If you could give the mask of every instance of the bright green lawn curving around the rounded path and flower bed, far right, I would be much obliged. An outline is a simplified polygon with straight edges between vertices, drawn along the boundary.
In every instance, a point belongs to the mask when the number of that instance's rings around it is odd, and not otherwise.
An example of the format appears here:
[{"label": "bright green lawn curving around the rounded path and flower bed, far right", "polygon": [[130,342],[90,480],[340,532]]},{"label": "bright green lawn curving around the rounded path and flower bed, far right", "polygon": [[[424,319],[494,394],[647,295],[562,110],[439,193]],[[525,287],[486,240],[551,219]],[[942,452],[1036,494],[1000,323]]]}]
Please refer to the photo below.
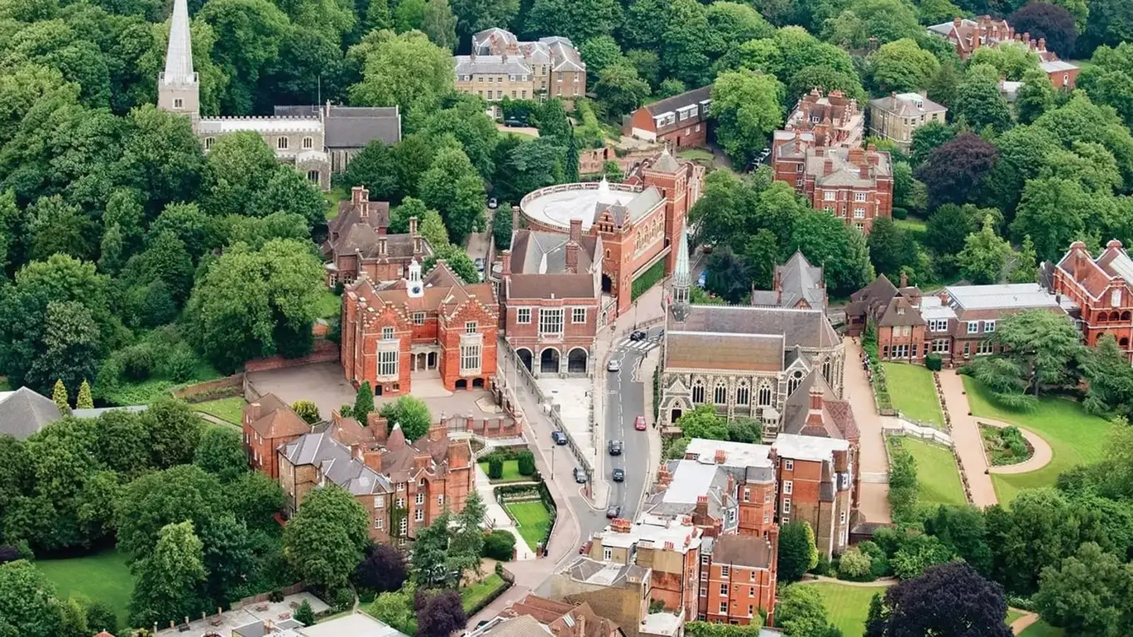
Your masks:
[{"label": "bright green lawn curving around the rounded path and flower bed, far right", "polygon": [[1020,490],[1054,485],[1058,474],[1077,465],[1097,462],[1105,456],[1113,424],[1087,414],[1077,402],[1042,398],[1034,409],[1007,409],[996,405],[974,379],[962,377],[972,414],[1031,430],[1042,436],[1054,452],[1050,464],[1041,469],[1025,474],[991,474],[1000,504],[1010,504]]}]

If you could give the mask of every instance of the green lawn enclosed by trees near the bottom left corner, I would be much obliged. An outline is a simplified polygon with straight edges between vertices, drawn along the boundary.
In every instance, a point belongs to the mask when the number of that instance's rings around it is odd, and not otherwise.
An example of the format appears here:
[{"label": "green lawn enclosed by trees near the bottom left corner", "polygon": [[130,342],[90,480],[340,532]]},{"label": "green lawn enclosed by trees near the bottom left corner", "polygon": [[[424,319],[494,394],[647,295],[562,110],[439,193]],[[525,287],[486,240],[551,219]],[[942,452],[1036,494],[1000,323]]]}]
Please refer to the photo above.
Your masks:
[{"label": "green lawn enclosed by trees near the bottom left corner", "polygon": [[119,625],[126,626],[134,576],[126,567],[126,555],[117,549],[84,558],[39,560],[35,566],[56,585],[61,598],[83,596],[107,602],[118,611]]}]

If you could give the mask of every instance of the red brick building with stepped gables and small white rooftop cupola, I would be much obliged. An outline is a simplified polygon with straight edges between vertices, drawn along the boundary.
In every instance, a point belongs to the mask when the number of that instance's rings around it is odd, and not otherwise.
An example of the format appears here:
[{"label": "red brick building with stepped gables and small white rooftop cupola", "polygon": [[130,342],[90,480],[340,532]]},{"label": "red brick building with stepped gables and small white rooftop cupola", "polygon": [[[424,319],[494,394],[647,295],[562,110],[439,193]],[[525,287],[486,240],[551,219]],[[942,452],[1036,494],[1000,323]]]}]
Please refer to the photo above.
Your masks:
[{"label": "red brick building with stepped gables and small white rooftop cupola", "polygon": [[341,360],[353,384],[375,394],[409,393],[412,379],[440,376],[454,391],[487,387],[496,371],[499,301],[491,283],[465,283],[438,261],[421,279],[382,286],[368,277],[342,295]]}]

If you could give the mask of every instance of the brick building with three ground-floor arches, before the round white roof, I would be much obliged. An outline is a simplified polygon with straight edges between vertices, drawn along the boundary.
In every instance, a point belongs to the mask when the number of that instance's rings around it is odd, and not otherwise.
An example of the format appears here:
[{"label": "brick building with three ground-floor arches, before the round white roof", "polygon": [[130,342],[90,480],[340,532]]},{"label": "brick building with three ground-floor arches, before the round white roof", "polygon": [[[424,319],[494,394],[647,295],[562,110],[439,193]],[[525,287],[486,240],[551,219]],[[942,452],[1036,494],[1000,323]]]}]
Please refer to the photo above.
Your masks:
[{"label": "brick building with three ground-floor arches, before the round white roof", "polygon": [[500,318],[508,342],[529,371],[579,374],[590,371],[602,306],[602,239],[518,230],[502,255]]}]

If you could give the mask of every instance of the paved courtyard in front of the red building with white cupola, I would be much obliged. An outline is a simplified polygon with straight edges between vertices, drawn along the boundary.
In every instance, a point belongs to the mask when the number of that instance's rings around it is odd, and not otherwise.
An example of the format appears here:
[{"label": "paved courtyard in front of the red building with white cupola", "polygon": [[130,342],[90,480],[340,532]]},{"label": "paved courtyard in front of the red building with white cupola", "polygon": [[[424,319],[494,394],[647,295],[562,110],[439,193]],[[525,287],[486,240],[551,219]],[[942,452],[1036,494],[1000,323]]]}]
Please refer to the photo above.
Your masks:
[{"label": "paved courtyard in front of the red building with white cupola", "polygon": [[[300,367],[252,372],[248,374],[248,381],[261,394],[271,392],[288,404],[304,399],[314,401],[324,418],[330,418],[333,409],[353,405],[357,394],[353,385],[342,375],[342,367],[338,363],[315,363]],[[440,418],[442,414],[444,416],[471,414],[477,418],[495,415],[495,411],[485,409],[485,407],[491,409],[493,406],[492,393],[487,390],[453,393],[441,387],[440,377],[431,376],[420,379],[414,376],[412,383],[410,394],[428,405],[434,419]],[[376,396],[374,406],[381,409],[382,405],[397,398],[397,396]]]}]

